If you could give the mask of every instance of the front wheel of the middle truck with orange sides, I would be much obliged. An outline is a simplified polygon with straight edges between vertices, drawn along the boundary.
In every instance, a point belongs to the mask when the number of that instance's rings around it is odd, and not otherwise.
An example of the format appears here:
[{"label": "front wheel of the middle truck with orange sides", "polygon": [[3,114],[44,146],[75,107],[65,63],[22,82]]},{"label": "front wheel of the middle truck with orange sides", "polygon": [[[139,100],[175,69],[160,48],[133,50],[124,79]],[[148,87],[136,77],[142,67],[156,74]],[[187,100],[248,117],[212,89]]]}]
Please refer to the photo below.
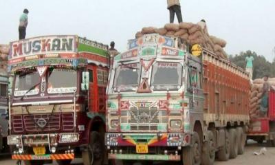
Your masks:
[{"label": "front wheel of the middle truck with orange sides", "polygon": [[201,164],[201,142],[197,132],[192,135],[191,145],[183,148],[182,162],[184,165]]}]

